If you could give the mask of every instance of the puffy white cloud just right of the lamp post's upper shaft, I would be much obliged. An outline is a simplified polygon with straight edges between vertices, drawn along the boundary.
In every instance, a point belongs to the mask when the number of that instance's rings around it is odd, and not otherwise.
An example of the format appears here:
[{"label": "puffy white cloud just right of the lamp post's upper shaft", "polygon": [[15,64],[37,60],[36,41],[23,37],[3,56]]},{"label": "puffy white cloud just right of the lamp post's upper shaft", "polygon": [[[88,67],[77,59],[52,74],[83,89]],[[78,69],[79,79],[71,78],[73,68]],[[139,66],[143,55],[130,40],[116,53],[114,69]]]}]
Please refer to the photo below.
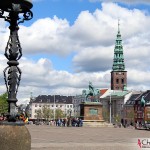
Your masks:
[{"label": "puffy white cloud just right of the lamp post's upper shaft", "polygon": [[30,28],[21,26],[20,40],[25,53],[48,53],[66,55],[70,52],[70,39],[65,36],[67,20],[44,18],[37,20]]}]

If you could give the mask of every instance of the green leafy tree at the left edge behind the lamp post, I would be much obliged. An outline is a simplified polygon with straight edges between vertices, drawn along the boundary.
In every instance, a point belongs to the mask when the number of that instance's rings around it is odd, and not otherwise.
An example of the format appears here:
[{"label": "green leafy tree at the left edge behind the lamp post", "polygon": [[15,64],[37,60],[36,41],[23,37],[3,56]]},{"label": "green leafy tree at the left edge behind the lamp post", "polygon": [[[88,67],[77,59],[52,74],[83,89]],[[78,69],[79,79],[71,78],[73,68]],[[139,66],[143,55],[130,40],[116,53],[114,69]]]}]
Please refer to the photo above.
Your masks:
[{"label": "green leafy tree at the left edge behind the lamp post", "polygon": [[7,98],[8,98],[7,93],[0,95],[0,114],[4,114],[8,112]]}]

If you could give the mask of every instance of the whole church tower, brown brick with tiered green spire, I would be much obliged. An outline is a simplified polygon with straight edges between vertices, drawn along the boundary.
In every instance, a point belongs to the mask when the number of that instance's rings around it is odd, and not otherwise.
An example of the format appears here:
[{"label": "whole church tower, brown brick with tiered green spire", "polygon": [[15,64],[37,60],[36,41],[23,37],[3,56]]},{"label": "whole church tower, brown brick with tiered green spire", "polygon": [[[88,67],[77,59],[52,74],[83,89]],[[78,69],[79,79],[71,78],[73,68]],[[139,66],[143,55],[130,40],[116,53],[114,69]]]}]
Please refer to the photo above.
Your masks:
[{"label": "whole church tower, brown brick with tiered green spire", "polygon": [[114,48],[114,59],[111,71],[111,90],[126,90],[127,71],[125,71],[123,46],[118,20],[118,33]]}]

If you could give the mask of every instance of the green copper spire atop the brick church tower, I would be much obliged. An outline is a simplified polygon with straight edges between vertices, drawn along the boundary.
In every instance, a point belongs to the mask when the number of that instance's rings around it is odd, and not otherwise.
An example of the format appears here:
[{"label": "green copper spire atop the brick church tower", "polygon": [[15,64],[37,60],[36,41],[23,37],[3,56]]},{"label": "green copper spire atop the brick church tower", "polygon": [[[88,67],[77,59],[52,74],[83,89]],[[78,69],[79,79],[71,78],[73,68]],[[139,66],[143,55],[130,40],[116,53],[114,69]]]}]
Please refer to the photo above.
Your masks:
[{"label": "green copper spire atop the brick church tower", "polygon": [[116,38],[116,43],[115,43],[114,60],[113,60],[112,69],[113,69],[113,71],[124,71],[125,70],[119,20],[118,20],[118,33],[117,33],[117,38]]}]

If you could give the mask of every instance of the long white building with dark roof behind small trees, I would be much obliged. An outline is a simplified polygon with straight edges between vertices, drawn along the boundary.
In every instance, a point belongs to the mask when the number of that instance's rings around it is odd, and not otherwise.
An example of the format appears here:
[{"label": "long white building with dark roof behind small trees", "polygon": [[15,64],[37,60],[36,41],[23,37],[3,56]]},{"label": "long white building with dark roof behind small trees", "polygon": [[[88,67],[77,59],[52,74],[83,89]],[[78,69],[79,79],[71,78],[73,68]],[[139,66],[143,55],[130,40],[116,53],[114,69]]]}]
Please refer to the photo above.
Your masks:
[{"label": "long white building with dark roof behind small trees", "polygon": [[70,113],[71,116],[74,116],[72,99],[73,96],[39,95],[38,97],[31,99],[29,103],[29,118],[33,120],[37,119],[37,110],[42,110],[44,106],[47,106],[53,110],[53,112],[55,112],[56,109],[61,109],[64,112],[65,117],[68,117]]}]

